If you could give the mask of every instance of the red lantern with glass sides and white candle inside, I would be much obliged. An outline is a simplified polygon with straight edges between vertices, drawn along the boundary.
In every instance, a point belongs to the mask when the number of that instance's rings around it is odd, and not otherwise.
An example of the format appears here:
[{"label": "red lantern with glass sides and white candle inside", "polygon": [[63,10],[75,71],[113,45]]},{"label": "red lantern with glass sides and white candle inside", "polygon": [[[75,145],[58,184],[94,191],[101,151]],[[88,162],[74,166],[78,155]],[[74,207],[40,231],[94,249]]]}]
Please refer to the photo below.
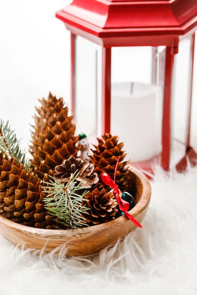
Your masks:
[{"label": "red lantern with glass sides and white candle inside", "polygon": [[83,132],[118,134],[135,166],[168,170],[190,146],[196,0],[73,0],[71,102]]}]

